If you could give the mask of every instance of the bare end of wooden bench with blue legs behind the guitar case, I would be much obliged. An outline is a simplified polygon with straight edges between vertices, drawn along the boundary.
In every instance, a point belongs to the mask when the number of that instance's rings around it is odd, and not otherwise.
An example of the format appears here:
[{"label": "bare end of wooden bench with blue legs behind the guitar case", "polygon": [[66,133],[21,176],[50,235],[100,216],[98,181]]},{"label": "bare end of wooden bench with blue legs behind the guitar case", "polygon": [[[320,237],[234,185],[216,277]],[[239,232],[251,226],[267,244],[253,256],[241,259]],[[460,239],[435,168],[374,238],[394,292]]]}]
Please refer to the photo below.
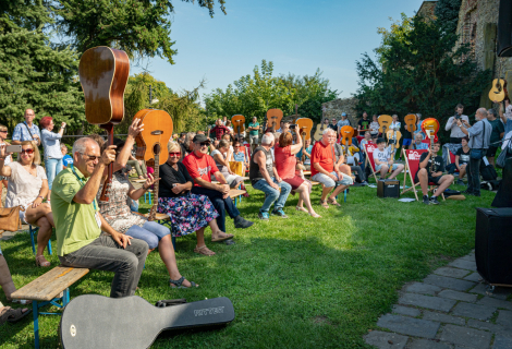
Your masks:
[{"label": "bare end of wooden bench with blue legs behind the guitar case", "polygon": [[[13,299],[32,300],[36,349],[39,348],[39,314],[61,315],[61,313],[42,313],[39,312],[39,309],[48,304],[61,309],[68,305],[70,302],[69,287],[83,278],[87,273],[89,273],[87,268],[57,266],[14,293],[11,293],[11,298]],[[59,301],[61,301],[62,304],[59,304]]]}]

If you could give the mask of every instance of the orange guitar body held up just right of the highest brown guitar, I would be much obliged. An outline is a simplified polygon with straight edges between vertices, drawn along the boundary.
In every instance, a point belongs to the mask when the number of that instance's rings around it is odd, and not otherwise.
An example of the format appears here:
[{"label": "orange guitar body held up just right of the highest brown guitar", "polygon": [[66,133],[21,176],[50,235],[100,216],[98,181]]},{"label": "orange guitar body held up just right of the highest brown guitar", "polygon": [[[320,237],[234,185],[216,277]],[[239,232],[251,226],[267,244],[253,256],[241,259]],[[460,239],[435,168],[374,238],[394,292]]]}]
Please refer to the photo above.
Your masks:
[{"label": "orange guitar body held up just right of the highest brown guitar", "polygon": [[[171,116],[163,110],[143,109],[137,111],[133,119],[139,119],[139,124],[144,123],[144,131],[135,139],[137,144],[136,158],[146,163],[155,161],[155,145],[157,144],[167,153],[167,144],[172,137],[173,130]],[[162,134],[155,134],[157,130],[162,131]],[[167,158],[167,156],[161,156],[158,165],[163,165]]]}]

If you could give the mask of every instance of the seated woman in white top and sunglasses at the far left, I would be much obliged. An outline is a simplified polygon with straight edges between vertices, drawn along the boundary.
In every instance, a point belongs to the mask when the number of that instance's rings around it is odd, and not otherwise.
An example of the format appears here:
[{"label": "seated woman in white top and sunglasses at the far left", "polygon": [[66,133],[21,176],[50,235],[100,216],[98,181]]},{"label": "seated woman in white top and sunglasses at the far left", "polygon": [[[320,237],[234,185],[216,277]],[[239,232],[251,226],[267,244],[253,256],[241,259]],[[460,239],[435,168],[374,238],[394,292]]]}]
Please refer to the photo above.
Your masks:
[{"label": "seated woman in white top and sunglasses at the far left", "polygon": [[23,222],[39,227],[37,233],[36,265],[50,266],[44,256],[44,251],[56,226],[49,203],[42,203],[48,194],[48,179],[39,166],[39,149],[33,141],[22,142],[22,153],[17,161],[4,166],[4,159],[11,155],[5,153],[5,145],[0,149],[0,176],[9,179],[5,207],[20,207],[20,219]]}]

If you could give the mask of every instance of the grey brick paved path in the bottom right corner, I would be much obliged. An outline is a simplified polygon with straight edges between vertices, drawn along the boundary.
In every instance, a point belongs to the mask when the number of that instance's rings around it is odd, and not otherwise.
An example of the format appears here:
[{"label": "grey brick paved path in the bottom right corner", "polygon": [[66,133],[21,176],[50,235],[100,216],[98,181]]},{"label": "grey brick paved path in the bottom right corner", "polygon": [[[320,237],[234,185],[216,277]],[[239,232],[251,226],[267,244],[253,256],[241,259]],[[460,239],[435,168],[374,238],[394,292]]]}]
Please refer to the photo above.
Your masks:
[{"label": "grey brick paved path in the bottom right corner", "polygon": [[512,288],[487,294],[479,280],[472,252],[423,282],[405,285],[366,342],[386,349],[512,349]]}]

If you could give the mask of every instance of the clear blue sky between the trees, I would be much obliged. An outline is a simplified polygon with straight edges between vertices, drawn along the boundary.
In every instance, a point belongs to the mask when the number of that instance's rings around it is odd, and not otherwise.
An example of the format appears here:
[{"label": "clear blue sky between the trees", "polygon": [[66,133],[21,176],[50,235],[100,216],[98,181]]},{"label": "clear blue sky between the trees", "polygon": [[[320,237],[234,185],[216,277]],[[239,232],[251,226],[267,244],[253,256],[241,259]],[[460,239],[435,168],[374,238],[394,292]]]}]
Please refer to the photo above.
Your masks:
[{"label": "clear blue sky between the trees", "polygon": [[[171,39],[175,64],[154,58],[143,62],[151,75],[172,89],[225,88],[252,73],[263,59],[275,75],[312,75],[319,68],[340,97],[357,88],[355,61],[380,44],[377,27],[389,28],[400,13],[412,16],[423,0],[227,0],[210,19],[196,4],[174,0]],[[141,72],[132,67],[131,73]]]}]

